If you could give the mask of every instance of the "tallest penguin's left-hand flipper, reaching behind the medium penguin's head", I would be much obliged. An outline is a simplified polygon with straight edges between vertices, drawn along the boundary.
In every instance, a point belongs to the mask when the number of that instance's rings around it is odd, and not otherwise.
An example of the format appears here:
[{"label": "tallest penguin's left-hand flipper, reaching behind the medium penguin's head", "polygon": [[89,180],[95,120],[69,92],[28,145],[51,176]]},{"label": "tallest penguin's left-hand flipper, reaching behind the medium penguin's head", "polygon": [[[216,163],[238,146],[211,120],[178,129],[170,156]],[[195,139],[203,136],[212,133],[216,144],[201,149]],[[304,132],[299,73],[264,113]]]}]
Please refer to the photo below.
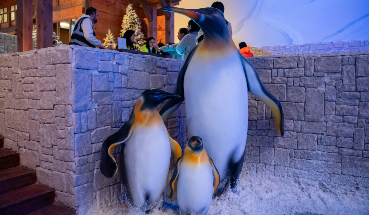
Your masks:
[{"label": "tallest penguin's left-hand flipper, reaching behind the medium penguin's head", "polygon": [[177,108],[179,107],[179,105],[181,105],[182,102],[184,101],[184,89],[183,89],[184,74],[186,73],[187,66],[188,66],[193,54],[196,52],[196,49],[197,49],[197,46],[195,46],[195,48],[193,48],[192,51],[187,56],[186,62],[184,62],[184,65],[183,65],[181,71],[179,72],[179,75],[178,75],[178,78],[177,78],[176,88],[174,89],[173,93],[178,94],[181,97],[180,98],[170,98],[170,99],[166,100],[165,104],[163,105],[162,109],[160,110],[160,115],[161,115],[164,122],[166,121],[166,119],[168,119],[170,114],[172,114],[174,111],[176,111]]}]

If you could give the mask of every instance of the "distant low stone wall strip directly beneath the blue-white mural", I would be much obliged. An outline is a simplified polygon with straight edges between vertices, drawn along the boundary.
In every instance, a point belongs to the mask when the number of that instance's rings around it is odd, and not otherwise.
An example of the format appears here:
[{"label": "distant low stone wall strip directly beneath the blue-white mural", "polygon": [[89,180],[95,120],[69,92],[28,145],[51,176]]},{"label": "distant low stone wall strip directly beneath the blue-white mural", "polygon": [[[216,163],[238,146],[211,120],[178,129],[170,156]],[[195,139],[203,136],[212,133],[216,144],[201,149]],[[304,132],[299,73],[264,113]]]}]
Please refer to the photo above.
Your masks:
[{"label": "distant low stone wall strip directly beneath the blue-white mural", "polygon": [[289,55],[289,54],[330,54],[343,52],[365,52],[369,51],[369,40],[321,42],[296,45],[277,45],[250,47],[254,56]]}]

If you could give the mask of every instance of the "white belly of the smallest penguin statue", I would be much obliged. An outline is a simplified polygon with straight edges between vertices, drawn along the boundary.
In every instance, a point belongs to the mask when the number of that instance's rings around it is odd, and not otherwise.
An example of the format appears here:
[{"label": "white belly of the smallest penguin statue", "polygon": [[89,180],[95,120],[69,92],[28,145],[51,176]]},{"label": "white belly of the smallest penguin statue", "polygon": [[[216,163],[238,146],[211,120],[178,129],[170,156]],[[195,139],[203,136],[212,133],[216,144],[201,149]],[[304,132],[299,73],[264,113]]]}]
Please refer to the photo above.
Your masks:
[{"label": "white belly of the smallest penguin statue", "polygon": [[209,162],[199,166],[181,163],[177,201],[183,214],[207,212],[213,198],[213,172]]}]

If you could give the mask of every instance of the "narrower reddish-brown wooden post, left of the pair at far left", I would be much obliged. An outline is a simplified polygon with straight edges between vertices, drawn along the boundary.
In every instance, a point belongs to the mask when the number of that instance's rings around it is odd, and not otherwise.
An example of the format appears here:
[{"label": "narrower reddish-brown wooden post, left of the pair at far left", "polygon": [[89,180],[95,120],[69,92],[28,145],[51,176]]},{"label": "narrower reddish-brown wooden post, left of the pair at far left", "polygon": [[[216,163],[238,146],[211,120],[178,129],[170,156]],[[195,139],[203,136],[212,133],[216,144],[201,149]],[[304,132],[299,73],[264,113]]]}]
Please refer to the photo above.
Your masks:
[{"label": "narrower reddish-brown wooden post, left of the pair at far left", "polygon": [[[23,0],[23,51],[32,50],[32,0]],[[19,20],[18,20],[19,21]],[[18,44],[19,45],[19,44]]]}]

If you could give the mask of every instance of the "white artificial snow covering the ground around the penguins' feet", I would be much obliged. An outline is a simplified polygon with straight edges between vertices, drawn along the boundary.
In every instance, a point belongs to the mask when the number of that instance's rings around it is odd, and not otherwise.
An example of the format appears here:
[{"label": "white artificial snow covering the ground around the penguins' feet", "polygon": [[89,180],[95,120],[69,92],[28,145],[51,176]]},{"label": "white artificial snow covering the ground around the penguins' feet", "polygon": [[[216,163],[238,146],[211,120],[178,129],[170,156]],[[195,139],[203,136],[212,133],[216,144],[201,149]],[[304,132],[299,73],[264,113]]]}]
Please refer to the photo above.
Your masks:
[{"label": "white artificial snow covering the ground around the penguins' feet", "polygon": [[[301,178],[276,177],[242,170],[238,194],[224,191],[211,203],[208,215],[290,215],[309,212],[323,215],[368,215],[369,189]],[[167,192],[168,193],[168,192]],[[169,191],[170,193],[170,191]],[[173,202],[175,203],[175,202]],[[172,208],[175,208],[172,203]],[[168,197],[165,204],[168,205]],[[134,215],[122,208],[89,209],[86,214]],[[150,215],[179,215],[170,207],[152,209]]]}]

